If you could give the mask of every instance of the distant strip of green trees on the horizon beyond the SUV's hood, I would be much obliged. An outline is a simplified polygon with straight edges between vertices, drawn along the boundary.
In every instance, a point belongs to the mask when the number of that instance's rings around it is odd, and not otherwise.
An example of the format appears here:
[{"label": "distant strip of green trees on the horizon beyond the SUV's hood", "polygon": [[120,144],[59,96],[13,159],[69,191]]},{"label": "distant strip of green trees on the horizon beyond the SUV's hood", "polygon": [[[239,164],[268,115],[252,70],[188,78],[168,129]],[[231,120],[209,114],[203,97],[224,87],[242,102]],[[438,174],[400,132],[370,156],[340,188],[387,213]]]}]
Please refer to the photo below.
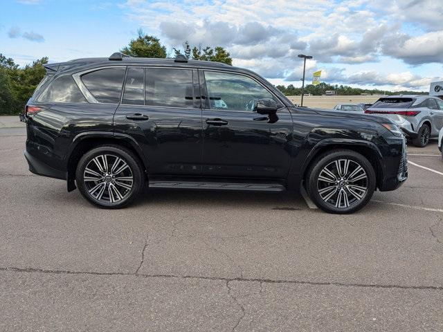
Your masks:
[{"label": "distant strip of green trees on the horizon beyond the SUV's hood", "polygon": [[[301,95],[302,89],[296,88],[293,84],[288,86],[278,85],[277,89],[282,91],[284,95]],[[327,83],[320,83],[318,85],[308,84],[305,86],[305,94],[310,93],[311,95],[325,95],[326,91],[336,91],[337,95],[361,95],[361,93],[368,93],[369,95],[427,95],[427,92],[417,92],[417,91],[386,91],[379,89],[359,89],[352,88],[352,86],[347,85],[332,85]]]}]

